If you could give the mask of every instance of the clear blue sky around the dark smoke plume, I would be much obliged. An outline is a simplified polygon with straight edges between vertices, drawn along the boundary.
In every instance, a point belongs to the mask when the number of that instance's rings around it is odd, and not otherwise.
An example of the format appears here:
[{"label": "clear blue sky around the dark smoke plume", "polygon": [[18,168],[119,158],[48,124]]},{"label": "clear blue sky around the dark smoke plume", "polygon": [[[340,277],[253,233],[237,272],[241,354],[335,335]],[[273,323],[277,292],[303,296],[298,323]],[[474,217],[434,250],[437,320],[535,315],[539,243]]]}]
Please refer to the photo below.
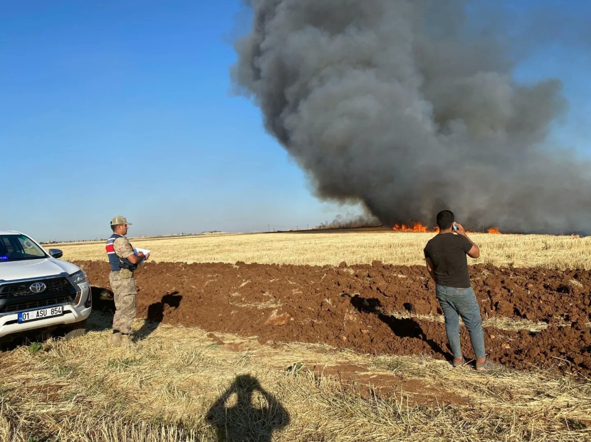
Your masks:
[{"label": "clear blue sky around the dark smoke plume", "polygon": [[[589,5],[568,4],[574,20],[591,18]],[[0,228],[80,240],[108,236],[119,214],[135,236],[355,213],[314,198],[259,110],[230,94],[240,10],[238,0],[1,2]],[[568,32],[557,40],[533,44],[515,75],[563,80],[570,111],[553,138],[588,155],[589,47]]]}]

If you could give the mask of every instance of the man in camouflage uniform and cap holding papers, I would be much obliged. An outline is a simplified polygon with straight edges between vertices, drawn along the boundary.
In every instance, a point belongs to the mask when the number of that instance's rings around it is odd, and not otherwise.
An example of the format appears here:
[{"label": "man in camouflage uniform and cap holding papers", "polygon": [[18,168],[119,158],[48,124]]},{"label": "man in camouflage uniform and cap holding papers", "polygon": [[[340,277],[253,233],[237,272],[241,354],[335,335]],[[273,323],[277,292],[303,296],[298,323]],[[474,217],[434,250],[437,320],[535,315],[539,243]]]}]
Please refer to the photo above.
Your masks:
[{"label": "man in camouflage uniform and cap holding papers", "polygon": [[129,240],[125,237],[128,230],[125,217],[117,216],[111,220],[113,235],[107,240],[106,252],[111,264],[109,282],[115,296],[115,316],[113,317],[112,345],[128,346],[131,343],[131,324],[135,319],[135,279],[134,270],[138,264],[150,257],[139,252],[134,253]]}]

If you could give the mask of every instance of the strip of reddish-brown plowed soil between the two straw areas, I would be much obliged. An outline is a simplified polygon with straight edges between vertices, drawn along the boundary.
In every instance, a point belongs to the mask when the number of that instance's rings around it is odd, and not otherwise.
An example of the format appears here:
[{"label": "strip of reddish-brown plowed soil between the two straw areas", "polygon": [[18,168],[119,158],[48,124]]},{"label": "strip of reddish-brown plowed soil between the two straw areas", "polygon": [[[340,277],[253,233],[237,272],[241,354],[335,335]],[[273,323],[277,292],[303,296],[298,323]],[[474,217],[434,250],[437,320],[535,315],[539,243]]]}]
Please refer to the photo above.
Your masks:
[{"label": "strip of reddish-brown plowed soil between the two straw areas", "polygon": [[[95,308],[109,289],[107,263],[78,263],[93,285]],[[541,332],[487,327],[489,357],[518,369],[591,374],[589,270],[470,267],[483,318],[547,323]],[[326,343],[372,354],[449,359],[445,326],[392,312],[440,315],[434,284],[422,266],[278,266],[146,263],[136,271],[138,317],[258,336],[262,342]],[[412,316],[412,315],[411,315]],[[473,357],[462,327],[462,347]]]}]

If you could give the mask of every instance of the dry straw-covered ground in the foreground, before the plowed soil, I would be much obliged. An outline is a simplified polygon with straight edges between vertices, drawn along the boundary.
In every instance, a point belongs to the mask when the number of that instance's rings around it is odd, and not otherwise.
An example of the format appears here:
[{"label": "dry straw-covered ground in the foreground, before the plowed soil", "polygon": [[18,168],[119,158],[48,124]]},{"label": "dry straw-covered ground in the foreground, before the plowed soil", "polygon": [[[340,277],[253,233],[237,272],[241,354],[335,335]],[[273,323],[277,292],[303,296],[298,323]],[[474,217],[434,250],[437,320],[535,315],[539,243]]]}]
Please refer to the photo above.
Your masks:
[{"label": "dry straw-covered ground in the foreground, before the plowed soil", "polygon": [[[81,338],[47,340],[41,351],[21,346],[2,355],[0,440],[591,438],[591,385],[584,379],[547,372],[482,375],[421,356],[268,346],[255,338],[155,323],[142,328],[152,331],[135,348],[112,348],[106,319],[93,314],[95,331]],[[374,388],[314,374],[314,366],[326,373],[353,367]],[[380,383],[395,387],[372,394]],[[452,401],[425,402],[426,392]]]}]

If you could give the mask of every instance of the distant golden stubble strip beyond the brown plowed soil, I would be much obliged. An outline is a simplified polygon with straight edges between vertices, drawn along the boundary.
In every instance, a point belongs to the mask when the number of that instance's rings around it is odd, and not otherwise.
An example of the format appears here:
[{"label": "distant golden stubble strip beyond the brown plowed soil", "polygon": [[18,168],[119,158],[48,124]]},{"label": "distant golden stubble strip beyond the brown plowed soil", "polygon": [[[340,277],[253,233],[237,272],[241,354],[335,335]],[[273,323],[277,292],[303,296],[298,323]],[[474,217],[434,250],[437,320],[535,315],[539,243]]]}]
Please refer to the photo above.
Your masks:
[{"label": "distant golden stubble strip beyond the brown plowed soil", "polygon": [[[186,263],[223,262],[310,264],[323,266],[370,264],[424,264],[423,248],[431,233],[393,231],[348,233],[272,233],[203,235],[180,238],[138,238],[137,247],[152,250],[151,260]],[[591,237],[553,235],[470,235],[481,257],[471,263],[496,266],[591,269]],[[104,244],[52,244],[64,259],[106,261]]]}]

